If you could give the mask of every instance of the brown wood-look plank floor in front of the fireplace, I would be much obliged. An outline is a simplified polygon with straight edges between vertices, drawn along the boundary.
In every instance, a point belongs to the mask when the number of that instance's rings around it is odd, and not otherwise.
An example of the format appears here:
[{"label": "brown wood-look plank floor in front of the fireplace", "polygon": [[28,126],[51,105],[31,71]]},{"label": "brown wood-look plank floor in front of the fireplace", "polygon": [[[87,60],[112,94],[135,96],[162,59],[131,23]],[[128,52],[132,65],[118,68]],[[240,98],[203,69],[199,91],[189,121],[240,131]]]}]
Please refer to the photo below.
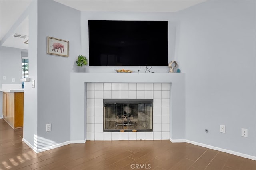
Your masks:
[{"label": "brown wood-look plank floor in front of the fireplace", "polygon": [[20,170],[256,170],[256,161],[189,143],[86,141],[35,154],[0,119],[0,167]]}]

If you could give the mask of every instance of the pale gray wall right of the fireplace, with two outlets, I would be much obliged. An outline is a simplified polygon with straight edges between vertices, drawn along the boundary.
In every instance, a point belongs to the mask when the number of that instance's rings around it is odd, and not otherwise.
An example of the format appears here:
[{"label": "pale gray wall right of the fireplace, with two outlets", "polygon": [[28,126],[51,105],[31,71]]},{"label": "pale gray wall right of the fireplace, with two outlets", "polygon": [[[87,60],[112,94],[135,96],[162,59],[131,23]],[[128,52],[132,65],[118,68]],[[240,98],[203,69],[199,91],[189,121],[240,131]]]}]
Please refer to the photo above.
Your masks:
[{"label": "pale gray wall right of the fireplace, with two outlets", "polygon": [[[186,139],[256,156],[255,1],[207,1],[179,12]],[[226,133],[220,133],[226,125]],[[241,137],[241,128],[248,137]],[[208,129],[209,133],[205,133]]]}]

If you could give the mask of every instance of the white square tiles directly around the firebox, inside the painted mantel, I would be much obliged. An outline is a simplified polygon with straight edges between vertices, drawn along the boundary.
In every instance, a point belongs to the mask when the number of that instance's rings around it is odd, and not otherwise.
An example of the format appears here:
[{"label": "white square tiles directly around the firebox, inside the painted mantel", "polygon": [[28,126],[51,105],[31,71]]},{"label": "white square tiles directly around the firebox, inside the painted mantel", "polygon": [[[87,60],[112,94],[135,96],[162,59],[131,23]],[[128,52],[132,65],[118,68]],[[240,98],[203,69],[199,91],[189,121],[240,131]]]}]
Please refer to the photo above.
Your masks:
[{"label": "white square tiles directly around the firebox, inside the painted mantel", "polygon": [[[87,140],[170,137],[170,83],[87,83]],[[154,132],[103,132],[103,99],[153,99]]]}]

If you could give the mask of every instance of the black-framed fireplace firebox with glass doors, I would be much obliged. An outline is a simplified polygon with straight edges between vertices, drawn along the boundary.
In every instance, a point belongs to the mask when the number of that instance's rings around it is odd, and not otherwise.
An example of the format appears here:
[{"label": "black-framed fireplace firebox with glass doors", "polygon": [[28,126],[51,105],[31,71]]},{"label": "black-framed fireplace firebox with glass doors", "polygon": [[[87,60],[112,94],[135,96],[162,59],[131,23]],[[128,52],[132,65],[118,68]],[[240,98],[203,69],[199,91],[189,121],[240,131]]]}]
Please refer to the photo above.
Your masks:
[{"label": "black-framed fireplace firebox with glass doors", "polygon": [[153,99],[103,99],[103,131],[153,131]]}]

